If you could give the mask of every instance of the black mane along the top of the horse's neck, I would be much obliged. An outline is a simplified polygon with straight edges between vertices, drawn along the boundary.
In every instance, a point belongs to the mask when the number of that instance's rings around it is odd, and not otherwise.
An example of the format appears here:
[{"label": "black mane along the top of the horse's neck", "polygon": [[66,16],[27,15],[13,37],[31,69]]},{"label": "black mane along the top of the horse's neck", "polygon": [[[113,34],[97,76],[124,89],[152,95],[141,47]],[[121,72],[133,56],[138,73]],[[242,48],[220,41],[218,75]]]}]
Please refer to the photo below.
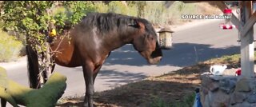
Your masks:
[{"label": "black mane along the top of the horse's neck", "polygon": [[142,22],[145,29],[150,34],[155,34],[154,28],[150,22],[143,18],[136,18],[132,16],[127,16],[123,14],[114,13],[90,13],[82,18],[83,26],[94,26],[102,33],[108,33],[113,30],[114,27],[122,28],[122,26],[127,26],[134,21]]}]

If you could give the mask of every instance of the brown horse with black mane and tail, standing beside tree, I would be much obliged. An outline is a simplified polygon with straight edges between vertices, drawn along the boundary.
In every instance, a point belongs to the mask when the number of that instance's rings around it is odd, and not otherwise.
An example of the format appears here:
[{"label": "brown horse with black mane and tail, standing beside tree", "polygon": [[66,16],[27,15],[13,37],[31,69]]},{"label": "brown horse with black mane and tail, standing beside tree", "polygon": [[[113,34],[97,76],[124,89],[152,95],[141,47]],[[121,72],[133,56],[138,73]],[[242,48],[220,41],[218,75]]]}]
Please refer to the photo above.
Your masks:
[{"label": "brown horse with black mane and tail, standing beside tree", "polygon": [[[146,19],[122,14],[87,14],[82,21],[70,30],[70,40],[55,39],[51,44],[60,53],[54,55],[58,65],[67,67],[82,66],[86,82],[84,105],[93,106],[94,80],[106,57],[112,50],[126,44],[134,49],[150,64],[158,64],[162,50],[158,46],[157,34]],[[70,43],[69,43],[70,41]],[[30,87],[38,85],[38,62],[36,53],[27,46]]]}]

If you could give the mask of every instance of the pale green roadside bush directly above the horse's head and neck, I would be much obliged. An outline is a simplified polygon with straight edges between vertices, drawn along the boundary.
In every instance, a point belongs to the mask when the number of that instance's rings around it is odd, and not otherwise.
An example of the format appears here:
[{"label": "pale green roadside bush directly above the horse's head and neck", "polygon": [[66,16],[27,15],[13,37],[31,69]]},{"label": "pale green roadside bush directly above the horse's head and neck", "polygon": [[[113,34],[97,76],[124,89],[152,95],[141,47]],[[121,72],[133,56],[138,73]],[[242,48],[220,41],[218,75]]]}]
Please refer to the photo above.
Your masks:
[{"label": "pale green roadside bush directly above the horse's head and neck", "polygon": [[[166,8],[164,2],[131,2],[138,8],[138,16],[146,18],[154,25],[166,26],[170,24],[180,24],[188,20],[182,19],[182,14],[198,14],[194,3],[185,4],[174,2],[172,6]],[[141,11],[142,10],[142,11]]]}]

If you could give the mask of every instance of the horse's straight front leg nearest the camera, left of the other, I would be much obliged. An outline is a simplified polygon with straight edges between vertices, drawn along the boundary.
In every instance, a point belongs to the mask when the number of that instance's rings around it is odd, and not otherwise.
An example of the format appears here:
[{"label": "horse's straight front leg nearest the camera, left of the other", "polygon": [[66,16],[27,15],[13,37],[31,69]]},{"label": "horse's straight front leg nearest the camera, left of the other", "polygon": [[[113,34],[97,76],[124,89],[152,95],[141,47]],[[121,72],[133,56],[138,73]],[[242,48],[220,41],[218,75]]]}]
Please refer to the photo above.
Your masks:
[{"label": "horse's straight front leg nearest the camera, left of the other", "polygon": [[94,106],[94,65],[86,63],[82,65],[83,77],[86,81],[86,96],[84,99],[84,106]]}]

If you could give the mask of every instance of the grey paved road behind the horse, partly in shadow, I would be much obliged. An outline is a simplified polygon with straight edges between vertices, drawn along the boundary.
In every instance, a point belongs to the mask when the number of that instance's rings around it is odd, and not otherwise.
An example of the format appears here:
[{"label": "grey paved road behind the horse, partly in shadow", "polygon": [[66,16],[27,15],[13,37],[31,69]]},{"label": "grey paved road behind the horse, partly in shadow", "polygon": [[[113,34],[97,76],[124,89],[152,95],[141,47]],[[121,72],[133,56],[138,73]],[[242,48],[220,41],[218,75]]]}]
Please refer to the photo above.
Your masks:
[{"label": "grey paved road behind the horse, partly in shadow", "polygon": [[[221,30],[214,21],[205,25],[189,27],[174,33],[174,50],[163,50],[163,59],[159,65],[147,65],[132,46],[122,46],[114,50],[102,66],[95,81],[95,91],[112,89],[128,82],[139,81],[148,76],[169,73],[197,61],[205,61],[240,51],[238,30]],[[81,96],[85,92],[82,68],[56,66],[58,71],[68,78],[66,96]],[[189,71],[188,71],[189,72]],[[27,85],[26,63],[8,69],[8,75],[14,81]]]}]

